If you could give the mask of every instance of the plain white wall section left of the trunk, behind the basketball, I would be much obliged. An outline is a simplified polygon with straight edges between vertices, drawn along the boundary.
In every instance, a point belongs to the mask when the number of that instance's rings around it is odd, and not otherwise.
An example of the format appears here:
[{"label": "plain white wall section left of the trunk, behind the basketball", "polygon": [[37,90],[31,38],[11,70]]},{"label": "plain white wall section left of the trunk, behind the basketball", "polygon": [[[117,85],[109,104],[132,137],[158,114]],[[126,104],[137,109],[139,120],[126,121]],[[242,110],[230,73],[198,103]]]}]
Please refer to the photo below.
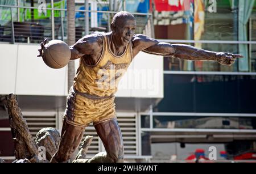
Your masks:
[{"label": "plain white wall section left of the trunk, behind the basketball", "polygon": [[37,45],[0,44],[0,94],[67,94],[67,67],[46,66],[36,57],[38,49]]}]

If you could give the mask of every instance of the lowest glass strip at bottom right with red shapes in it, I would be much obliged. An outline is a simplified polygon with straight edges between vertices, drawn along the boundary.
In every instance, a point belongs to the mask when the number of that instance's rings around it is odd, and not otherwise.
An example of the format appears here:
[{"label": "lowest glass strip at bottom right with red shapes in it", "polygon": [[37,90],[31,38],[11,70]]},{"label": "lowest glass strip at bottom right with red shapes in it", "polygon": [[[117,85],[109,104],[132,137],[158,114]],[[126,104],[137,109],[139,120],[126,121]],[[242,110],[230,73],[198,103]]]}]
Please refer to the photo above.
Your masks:
[{"label": "lowest glass strip at bottom right with red shapes in it", "polygon": [[[211,150],[216,148],[216,160],[213,162],[227,162],[225,160],[255,159],[255,147],[252,141],[234,141],[229,143],[162,143],[151,144],[152,162],[209,162]],[[197,157],[198,156],[198,157]]]}]

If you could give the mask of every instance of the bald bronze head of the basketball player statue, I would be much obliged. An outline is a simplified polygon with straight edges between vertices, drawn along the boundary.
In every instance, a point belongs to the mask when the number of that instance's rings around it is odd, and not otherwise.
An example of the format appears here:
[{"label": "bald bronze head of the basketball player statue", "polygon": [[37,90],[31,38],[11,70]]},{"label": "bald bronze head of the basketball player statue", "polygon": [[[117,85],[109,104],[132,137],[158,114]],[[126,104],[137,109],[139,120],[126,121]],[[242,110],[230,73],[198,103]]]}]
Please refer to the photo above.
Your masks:
[{"label": "bald bronze head of the basketball player statue", "polygon": [[118,45],[127,45],[131,41],[136,28],[136,20],[130,12],[120,11],[114,15],[111,23],[114,41]]}]

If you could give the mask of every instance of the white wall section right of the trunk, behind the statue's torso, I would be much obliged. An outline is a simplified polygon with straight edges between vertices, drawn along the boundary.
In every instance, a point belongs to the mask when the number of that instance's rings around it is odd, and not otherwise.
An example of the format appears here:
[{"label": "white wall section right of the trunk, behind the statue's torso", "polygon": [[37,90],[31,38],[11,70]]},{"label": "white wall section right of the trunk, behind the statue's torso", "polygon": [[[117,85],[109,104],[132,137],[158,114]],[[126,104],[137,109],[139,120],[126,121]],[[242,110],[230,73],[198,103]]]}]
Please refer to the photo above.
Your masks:
[{"label": "white wall section right of the trunk, behind the statue's torso", "polygon": [[[75,68],[79,60],[75,62]],[[140,52],[119,82],[117,97],[163,98],[163,57]]]}]

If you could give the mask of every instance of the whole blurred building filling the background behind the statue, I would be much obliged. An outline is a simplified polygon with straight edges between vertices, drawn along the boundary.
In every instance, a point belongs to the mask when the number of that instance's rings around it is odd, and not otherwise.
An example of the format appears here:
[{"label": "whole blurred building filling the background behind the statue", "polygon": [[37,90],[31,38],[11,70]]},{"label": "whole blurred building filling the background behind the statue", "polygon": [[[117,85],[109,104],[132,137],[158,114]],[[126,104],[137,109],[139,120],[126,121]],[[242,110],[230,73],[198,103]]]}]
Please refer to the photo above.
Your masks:
[{"label": "whole blurred building filling the background behind the statue", "polygon": [[[127,161],[208,160],[211,146],[218,161],[256,159],[256,1],[75,2],[76,40],[108,32],[115,11],[126,10],[137,18],[137,33],[245,57],[227,67],[138,54],[115,101]],[[67,67],[50,69],[36,55],[45,37],[67,41],[65,9],[65,0],[0,1],[0,158],[14,159],[5,107],[10,92],[32,135],[48,126],[61,129]],[[88,157],[104,150],[93,126],[85,135],[94,137]]]}]

